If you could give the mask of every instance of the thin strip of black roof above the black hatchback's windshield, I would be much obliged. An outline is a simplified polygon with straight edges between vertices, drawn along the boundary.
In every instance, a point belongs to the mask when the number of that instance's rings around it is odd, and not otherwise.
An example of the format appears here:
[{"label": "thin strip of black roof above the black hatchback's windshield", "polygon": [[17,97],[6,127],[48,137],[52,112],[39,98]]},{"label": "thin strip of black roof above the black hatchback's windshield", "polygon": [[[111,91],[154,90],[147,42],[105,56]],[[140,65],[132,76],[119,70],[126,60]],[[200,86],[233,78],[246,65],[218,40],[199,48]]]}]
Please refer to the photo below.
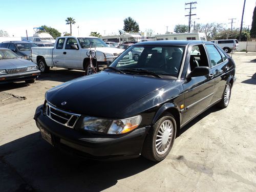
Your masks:
[{"label": "thin strip of black roof above the black hatchback's windshield", "polygon": [[155,40],[155,41],[143,41],[134,44],[135,46],[187,46],[187,45],[194,45],[194,44],[212,44],[209,41],[201,41],[201,40]]}]

